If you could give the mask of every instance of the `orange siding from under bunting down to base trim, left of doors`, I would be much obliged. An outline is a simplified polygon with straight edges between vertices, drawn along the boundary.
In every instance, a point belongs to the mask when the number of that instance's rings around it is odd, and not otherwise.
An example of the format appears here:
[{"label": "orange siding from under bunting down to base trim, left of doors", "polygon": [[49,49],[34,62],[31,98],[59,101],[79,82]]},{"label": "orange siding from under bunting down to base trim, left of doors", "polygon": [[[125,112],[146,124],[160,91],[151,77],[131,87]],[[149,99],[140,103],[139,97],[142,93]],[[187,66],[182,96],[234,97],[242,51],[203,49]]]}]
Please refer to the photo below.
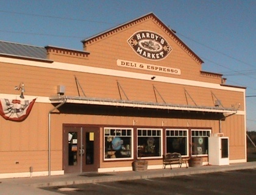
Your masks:
[{"label": "orange siding from under bunting down to base trim, left of doors", "polygon": [[[0,161],[1,173],[27,172],[30,166],[34,171],[48,169],[48,112],[51,108],[50,104],[35,103],[23,122],[0,118],[0,152],[1,159],[4,159]],[[55,139],[59,143],[52,145],[52,170],[60,170],[62,141]]]}]

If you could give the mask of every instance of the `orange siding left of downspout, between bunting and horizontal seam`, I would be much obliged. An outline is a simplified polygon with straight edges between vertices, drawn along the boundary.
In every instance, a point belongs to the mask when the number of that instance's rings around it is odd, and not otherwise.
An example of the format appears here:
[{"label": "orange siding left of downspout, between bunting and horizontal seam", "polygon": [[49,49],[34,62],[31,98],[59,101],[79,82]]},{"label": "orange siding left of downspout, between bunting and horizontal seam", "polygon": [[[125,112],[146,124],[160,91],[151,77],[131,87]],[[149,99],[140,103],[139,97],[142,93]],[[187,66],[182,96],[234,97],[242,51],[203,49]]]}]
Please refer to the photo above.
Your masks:
[{"label": "orange siding left of downspout, between bunting and horizontal seam", "polygon": [[34,104],[29,117],[23,122],[0,118],[1,151],[44,151],[48,149],[49,104]]}]

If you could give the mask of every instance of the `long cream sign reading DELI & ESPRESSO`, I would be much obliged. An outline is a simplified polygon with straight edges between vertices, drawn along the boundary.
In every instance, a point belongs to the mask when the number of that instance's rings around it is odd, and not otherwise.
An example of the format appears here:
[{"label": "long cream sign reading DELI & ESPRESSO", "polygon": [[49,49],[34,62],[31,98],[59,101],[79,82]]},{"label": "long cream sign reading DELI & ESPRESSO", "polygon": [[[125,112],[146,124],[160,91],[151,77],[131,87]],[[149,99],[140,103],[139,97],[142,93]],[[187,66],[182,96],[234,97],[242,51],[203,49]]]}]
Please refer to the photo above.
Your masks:
[{"label": "long cream sign reading DELI & ESPRESSO", "polygon": [[166,66],[157,66],[157,65],[149,65],[147,63],[139,63],[139,62],[131,62],[127,60],[117,60],[116,61],[118,66],[123,66],[126,68],[136,68],[136,69],[143,69],[147,71],[155,71],[158,73],[168,73],[168,74],[177,74],[180,75],[180,69],[178,68],[169,68]]}]

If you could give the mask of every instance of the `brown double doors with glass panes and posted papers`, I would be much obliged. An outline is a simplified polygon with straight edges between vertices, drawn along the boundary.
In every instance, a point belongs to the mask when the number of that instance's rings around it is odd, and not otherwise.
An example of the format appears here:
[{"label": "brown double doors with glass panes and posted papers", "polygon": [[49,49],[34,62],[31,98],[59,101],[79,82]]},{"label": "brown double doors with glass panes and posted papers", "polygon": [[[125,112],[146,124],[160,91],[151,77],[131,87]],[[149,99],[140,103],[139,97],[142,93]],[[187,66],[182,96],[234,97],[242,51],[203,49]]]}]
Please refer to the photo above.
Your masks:
[{"label": "brown double doors with glass panes and posted papers", "polygon": [[99,168],[99,128],[63,127],[63,169],[68,172],[92,172]]}]

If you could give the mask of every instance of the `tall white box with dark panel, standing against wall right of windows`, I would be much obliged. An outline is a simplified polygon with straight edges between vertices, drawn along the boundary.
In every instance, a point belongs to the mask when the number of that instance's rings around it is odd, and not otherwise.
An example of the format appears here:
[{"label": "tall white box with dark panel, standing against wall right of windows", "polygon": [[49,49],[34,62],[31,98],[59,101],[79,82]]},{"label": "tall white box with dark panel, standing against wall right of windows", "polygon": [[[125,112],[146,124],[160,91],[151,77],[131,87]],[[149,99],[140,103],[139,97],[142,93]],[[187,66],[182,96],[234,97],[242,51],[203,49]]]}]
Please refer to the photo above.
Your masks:
[{"label": "tall white box with dark panel, standing against wall right of windows", "polygon": [[229,137],[209,137],[208,149],[210,165],[229,165]]}]

